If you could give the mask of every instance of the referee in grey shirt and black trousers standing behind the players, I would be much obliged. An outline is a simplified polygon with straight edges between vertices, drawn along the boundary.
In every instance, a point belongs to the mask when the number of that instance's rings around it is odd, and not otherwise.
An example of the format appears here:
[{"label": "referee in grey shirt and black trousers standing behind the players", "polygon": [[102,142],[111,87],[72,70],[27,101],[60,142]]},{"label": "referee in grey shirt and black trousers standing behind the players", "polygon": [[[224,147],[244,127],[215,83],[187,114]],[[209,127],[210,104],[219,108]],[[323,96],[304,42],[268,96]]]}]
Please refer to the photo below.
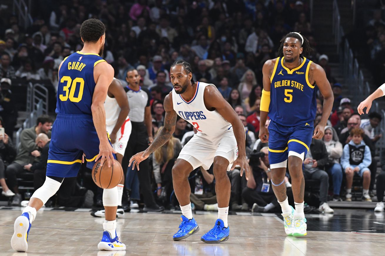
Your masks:
[{"label": "referee in grey shirt and black trousers standing behind the players", "polygon": [[[141,76],[136,69],[127,71],[126,81],[128,86],[125,88],[128,100],[130,102],[130,119],[132,131],[127,144],[126,151],[122,160],[122,166],[128,166],[131,156],[146,150],[152,138],[152,116],[150,109],[150,93],[139,86]],[[136,171],[139,178],[140,191],[144,199],[144,211],[163,211],[164,207],[155,203],[151,191],[150,165],[149,160],[142,161],[140,171]],[[132,171],[131,168],[127,172]],[[127,175],[132,175],[127,173]],[[127,179],[132,180],[132,179]],[[135,182],[135,181],[134,181]],[[131,186],[129,186],[131,187]],[[137,198],[139,199],[139,198]]]}]

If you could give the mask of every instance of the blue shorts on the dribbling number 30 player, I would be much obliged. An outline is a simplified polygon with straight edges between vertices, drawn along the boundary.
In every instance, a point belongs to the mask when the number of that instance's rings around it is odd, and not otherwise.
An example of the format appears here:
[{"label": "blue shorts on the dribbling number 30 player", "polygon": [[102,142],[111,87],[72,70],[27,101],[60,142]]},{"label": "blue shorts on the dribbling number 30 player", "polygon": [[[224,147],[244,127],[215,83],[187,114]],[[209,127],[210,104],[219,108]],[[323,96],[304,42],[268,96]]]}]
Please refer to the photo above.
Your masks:
[{"label": "blue shorts on the dribbling number 30 player", "polygon": [[[107,132],[105,136],[108,137]],[[52,126],[46,175],[76,177],[83,153],[87,168],[92,169],[99,154],[99,137],[92,116],[58,114]]]}]

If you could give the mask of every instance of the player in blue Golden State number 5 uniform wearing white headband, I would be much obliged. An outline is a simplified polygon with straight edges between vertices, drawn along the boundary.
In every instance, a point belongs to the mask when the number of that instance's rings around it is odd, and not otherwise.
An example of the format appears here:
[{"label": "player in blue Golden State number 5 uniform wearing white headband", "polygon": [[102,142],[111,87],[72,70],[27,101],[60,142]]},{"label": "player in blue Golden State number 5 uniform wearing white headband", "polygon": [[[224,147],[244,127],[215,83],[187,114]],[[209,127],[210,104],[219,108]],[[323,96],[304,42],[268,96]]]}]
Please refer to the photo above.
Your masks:
[{"label": "player in blue Golden State number 5 uniform wearing white headband", "polygon": [[[281,40],[280,57],[266,61],[262,69],[259,138],[263,143],[269,143],[271,183],[282,208],[288,236],[307,234],[303,213],[305,179],[302,163],[312,138],[320,140],[323,137],[334,100],[323,68],[304,57],[309,51],[305,37],[296,32],[288,33]],[[313,128],[316,85],[324,101],[320,124]],[[267,116],[270,118],[268,128],[264,126]],[[286,166],[291,176],[295,209],[289,205],[286,196]],[[313,167],[316,166],[315,161]]]}]

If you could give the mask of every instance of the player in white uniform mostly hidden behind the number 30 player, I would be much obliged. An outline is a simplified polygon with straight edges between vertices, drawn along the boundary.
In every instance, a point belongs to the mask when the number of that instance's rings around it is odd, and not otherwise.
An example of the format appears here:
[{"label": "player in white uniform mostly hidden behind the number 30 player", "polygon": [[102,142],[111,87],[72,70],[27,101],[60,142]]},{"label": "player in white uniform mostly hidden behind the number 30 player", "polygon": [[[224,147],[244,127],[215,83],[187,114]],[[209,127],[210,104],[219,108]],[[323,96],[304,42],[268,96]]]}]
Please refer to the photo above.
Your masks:
[{"label": "player in white uniform mostly hidden behind the number 30 player", "polygon": [[[124,151],[127,147],[128,139],[131,134],[131,121],[128,116],[130,106],[127,100],[126,91],[122,87],[121,82],[114,78],[108,87],[107,98],[104,101],[105,109],[105,127],[109,133],[112,147],[116,151],[116,160],[122,164]],[[116,216],[120,217],[124,215],[124,209],[122,208],[122,196],[124,190],[124,175],[117,185],[119,199]],[[104,217],[104,208],[92,212],[94,217]]]}]

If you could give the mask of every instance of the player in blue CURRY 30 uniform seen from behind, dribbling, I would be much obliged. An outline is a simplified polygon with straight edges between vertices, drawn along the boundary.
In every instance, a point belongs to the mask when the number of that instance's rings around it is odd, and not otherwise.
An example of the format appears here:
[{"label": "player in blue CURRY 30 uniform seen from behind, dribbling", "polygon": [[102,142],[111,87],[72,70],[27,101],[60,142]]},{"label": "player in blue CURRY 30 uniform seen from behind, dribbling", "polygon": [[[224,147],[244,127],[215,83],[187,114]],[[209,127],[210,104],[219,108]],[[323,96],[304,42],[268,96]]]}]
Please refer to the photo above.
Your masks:
[{"label": "player in blue CURRY 30 uniform seen from behind, dribbling", "polygon": [[[114,69],[103,54],[105,27],[100,20],[89,19],[80,27],[84,42],[81,51],[65,58],[59,66],[57,117],[52,127],[48,152],[46,180],[33,193],[28,206],[15,220],[11,246],[15,251],[27,251],[28,233],[36,212],[53,196],[64,178],[76,177],[83,159],[92,168],[101,157],[110,167],[116,153],[109,142],[104,101],[114,77]],[[103,191],[105,221],[100,250],[125,250],[126,245],[116,235],[117,188]]]}]

